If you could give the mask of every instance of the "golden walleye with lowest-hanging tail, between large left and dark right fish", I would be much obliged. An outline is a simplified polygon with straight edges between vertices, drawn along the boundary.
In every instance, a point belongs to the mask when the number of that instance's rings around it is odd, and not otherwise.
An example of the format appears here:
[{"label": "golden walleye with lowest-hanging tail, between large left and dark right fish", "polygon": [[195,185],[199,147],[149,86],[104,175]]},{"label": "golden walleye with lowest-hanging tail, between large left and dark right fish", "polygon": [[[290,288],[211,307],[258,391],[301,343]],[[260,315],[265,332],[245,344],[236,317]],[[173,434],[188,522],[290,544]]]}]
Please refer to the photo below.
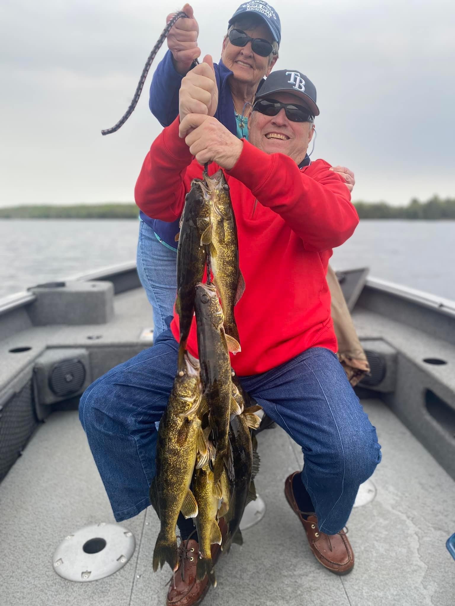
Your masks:
[{"label": "golden walleye with lowest-hanging tail, between large left and dark right fish", "polygon": [[215,543],[221,545],[221,530],[218,526],[217,514],[222,492],[220,485],[215,485],[214,473],[209,462],[204,467],[194,470],[193,490],[198,504],[196,528],[200,550],[196,576],[201,581],[208,574],[212,585],[216,587],[211,546]]}]

